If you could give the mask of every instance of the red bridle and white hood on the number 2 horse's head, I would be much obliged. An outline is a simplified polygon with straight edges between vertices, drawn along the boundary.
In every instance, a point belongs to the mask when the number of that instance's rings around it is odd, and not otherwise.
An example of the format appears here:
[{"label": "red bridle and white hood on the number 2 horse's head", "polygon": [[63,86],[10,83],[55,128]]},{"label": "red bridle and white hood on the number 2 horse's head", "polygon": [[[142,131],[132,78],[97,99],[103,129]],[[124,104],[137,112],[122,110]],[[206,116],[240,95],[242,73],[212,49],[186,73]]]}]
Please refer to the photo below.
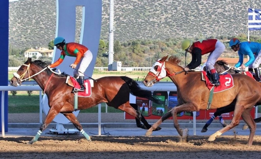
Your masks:
[{"label": "red bridle and white hood on the number 2 horse's head", "polygon": [[[152,82],[154,83],[157,83],[159,82],[162,78],[165,78],[165,77],[170,77],[170,76],[173,76],[173,75],[177,75],[179,73],[182,73],[184,72],[183,71],[180,71],[180,72],[174,72],[174,73],[170,73],[168,70],[166,70],[165,68],[165,61],[162,62],[160,60],[157,60],[156,62],[159,62],[161,65],[158,65],[158,68],[157,70],[155,71],[154,70],[154,66],[151,68],[151,71],[148,73],[149,75],[155,77],[154,80],[152,80]],[[156,63],[155,63],[156,64]],[[155,72],[155,73],[154,73]],[[164,75],[162,75],[164,74]],[[162,75],[162,76],[161,76]]]}]

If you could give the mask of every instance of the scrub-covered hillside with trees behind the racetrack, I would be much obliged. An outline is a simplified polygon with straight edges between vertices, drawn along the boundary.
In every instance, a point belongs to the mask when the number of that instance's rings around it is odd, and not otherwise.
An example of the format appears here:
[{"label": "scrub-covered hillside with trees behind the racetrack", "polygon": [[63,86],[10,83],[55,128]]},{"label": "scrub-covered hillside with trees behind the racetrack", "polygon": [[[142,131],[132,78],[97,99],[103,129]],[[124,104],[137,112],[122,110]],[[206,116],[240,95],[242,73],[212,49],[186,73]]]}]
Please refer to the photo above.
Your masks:
[{"label": "scrub-covered hillside with trees behind the racetrack", "polygon": [[[24,62],[31,47],[52,47],[55,38],[56,0],[19,0],[9,5],[9,65]],[[247,40],[247,8],[261,8],[259,1],[114,1],[114,61],[122,66],[151,66],[156,59],[175,54],[184,64],[180,49],[185,38],[218,38],[226,46],[232,37]],[[77,7],[81,13],[81,8]],[[77,14],[79,41],[81,14]],[[102,29],[96,66],[108,66],[109,0],[102,0]],[[261,41],[261,31],[251,31],[252,41]],[[230,48],[222,54],[235,57]],[[207,57],[207,56],[206,56]],[[206,57],[203,57],[205,59]],[[44,60],[50,60],[42,57]],[[189,61],[191,56],[187,56]]]}]

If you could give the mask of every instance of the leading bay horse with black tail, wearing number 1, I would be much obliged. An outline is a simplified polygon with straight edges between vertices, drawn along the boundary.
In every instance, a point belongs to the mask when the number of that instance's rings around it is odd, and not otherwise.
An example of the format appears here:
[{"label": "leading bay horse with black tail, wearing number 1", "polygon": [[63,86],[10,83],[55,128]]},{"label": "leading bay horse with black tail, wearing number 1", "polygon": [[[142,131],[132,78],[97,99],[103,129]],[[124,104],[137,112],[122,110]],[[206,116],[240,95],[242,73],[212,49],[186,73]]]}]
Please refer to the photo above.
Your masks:
[{"label": "leading bay horse with black tail, wearing number 1", "polygon": [[[46,129],[58,113],[64,114],[64,116],[75,125],[85,138],[90,140],[90,136],[84,132],[81,124],[73,114],[74,93],[72,93],[73,87],[65,83],[67,75],[64,73],[62,75],[56,75],[48,70],[46,66],[46,62],[41,60],[32,61],[31,58],[28,58],[28,60],[19,68],[17,73],[14,73],[14,77],[10,80],[12,86],[17,86],[17,84],[21,84],[21,81],[27,78],[32,78],[44,90],[48,97],[50,110],[36,136],[29,143],[33,144],[38,140],[42,131]],[[142,114],[133,108],[137,107],[137,105],[130,104],[130,93],[159,103],[159,99],[153,96],[151,91],[140,88],[139,84],[137,84],[133,79],[125,76],[110,76],[99,78],[97,79],[97,82],[94,82],[94,87],[92,88],[92,94],[90,97],[78,98],[78,110],[91,108],[99,103],[106,102],[108,106],[122,110],[134,116],[145,125],[143,127],[137,123],[138,127],[144,129],[150,128],[151,125],[148,124]],[[160,129],[161,128],[158,127],[155,130]]]}]

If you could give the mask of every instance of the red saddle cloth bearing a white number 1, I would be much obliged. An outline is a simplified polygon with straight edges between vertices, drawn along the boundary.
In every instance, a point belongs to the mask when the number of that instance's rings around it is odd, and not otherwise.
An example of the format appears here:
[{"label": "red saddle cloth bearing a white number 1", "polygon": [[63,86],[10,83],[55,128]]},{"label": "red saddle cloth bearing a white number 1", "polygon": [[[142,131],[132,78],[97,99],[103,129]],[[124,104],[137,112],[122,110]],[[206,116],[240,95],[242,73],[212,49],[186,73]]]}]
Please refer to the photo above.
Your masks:
[{"label": "red saddle cloth bearing a white number 1", "polygon": [[[76,81],[76,79],[72,76],[70,76],[71,81],[73,82],[74,89],[81,89],[80,84]],[[92,95],[92,87],[90,84],[89,79],[84,80],[84,87],[85,91],[84,92],[78,92],[78,97],[90,97]]]}]

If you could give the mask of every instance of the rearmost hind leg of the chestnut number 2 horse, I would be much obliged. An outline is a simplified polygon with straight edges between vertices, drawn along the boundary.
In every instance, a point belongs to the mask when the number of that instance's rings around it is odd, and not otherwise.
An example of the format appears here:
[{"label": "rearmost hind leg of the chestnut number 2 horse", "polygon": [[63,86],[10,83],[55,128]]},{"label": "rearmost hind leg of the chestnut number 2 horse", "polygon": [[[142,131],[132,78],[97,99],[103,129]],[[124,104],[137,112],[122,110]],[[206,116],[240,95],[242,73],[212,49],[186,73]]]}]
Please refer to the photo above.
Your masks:
[{"label": "rearmost hind leg of the chestnut number 2 horse", "polygon": [[247,145],[251,146],[252,143],[253,143],[253,138],[254,138],[254,135],[255,135],[255,130],[256,130],[256,124],[253,120],[253,118],[251,117],[251,114],[250,114],[250,111],[251,109],[246,109],[241,117],[243,118],[243,120],[247,123],[247,125],[249,126],[249,130],[250,130],[250,134],[249,134],[249,139],[248,139],[248,142],[247,142]]}]

